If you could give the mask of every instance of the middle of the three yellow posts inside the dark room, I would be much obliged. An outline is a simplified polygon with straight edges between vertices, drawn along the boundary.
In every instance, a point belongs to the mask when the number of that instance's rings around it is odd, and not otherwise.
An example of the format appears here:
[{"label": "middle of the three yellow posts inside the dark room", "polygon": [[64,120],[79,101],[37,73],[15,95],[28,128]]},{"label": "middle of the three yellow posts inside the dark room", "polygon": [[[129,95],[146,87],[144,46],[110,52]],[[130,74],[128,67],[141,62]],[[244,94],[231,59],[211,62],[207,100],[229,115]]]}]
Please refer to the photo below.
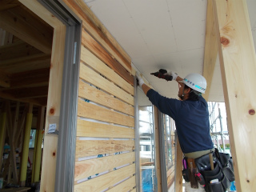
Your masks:
[{"label": "middle of the three yellow posts inside the dark room", "polygon": [[27,160],[29,157],[29,148],[30,148],[30,130],[32,126],[32,114],[33,105],[30,104],[29,111],[26,116],[26,127],[24,134],[24,141],[22,146],[22,164],[21,164],[21,173],[20,173],[20,185],[25,186],[26,184],[26,170],[27,170]]}]

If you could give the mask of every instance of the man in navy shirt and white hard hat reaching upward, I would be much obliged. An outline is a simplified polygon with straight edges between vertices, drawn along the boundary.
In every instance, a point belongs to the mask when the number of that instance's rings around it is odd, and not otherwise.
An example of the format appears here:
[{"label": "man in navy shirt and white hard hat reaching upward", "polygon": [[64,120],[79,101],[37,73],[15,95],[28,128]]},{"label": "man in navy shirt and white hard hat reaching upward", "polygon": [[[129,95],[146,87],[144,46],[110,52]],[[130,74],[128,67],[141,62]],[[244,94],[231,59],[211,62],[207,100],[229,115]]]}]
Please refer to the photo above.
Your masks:
[{"label": "man in navy shirt and white hard hat reaching upward", "polygon": [[[202,155],[210,154],[214,150],[214,144],[210,137],[208,105],[201,95],[206,90],[206,79],[201,74],[188,74],[184,79],[174,72],[165,75],[172,76],[171,79],[169,77],[169,80],[178,82],[178,97],[181,100],[166,98],[158,94],[146,86],[141,76],[136,73],[138,84],[150,102],[163,114],[174,119],[184,156],[193,160],[202,157]],[[197,187],[190,186],[190,182],[186,182],[186,191],[205,191],[200,185],[198,185],[198,189],[194,188]]]}]

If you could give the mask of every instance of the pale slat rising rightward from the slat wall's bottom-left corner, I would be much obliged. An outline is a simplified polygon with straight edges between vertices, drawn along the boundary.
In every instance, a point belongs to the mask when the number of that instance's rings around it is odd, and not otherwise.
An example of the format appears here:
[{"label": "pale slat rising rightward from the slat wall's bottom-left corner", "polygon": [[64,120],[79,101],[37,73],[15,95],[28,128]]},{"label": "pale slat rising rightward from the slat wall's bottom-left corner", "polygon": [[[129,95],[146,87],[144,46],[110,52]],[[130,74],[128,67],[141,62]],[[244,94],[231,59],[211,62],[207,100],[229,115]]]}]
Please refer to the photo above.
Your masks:
[{"label": "pale slat rising rightward from the slat wall's bottom-left corner", "polygon": [[111,171],[108,174],[103,174],[102,176],[90,179],[86,182],[81,182],[74,186],[74,191],[84,192],[106,190],[123,179],[133,176],[133,174],[135,174],[135,164]]}]

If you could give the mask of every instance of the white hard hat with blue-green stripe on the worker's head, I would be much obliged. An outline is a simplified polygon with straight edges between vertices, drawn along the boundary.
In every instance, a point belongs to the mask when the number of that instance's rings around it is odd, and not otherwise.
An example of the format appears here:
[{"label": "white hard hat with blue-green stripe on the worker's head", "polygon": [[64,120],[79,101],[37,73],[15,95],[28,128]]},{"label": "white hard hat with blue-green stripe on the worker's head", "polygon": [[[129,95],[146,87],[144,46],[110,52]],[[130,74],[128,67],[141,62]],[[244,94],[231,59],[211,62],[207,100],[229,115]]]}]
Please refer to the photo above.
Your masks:
[{"label": "white hard hat with blue-green stripe on the worker's head", "polygon": [[206,91],[206,78],[202,77],[201,74],[188,74],[182,82],[186,86],[189,86],[191,89],[196,90],[202,94],[204,94]]}]

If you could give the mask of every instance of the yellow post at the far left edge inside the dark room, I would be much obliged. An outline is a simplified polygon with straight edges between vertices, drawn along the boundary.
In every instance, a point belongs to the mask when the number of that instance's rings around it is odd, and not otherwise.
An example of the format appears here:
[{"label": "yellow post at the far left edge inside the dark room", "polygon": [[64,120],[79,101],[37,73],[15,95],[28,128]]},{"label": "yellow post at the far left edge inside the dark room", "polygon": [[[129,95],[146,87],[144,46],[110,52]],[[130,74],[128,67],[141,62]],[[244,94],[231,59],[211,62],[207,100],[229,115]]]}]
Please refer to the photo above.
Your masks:
[{"label": "yellow post at the far left edge inside the dark room", "polygon": [[0,167],[2,167],[2,154],[6,138],[6,110],[2,110],[0,114]]}]

